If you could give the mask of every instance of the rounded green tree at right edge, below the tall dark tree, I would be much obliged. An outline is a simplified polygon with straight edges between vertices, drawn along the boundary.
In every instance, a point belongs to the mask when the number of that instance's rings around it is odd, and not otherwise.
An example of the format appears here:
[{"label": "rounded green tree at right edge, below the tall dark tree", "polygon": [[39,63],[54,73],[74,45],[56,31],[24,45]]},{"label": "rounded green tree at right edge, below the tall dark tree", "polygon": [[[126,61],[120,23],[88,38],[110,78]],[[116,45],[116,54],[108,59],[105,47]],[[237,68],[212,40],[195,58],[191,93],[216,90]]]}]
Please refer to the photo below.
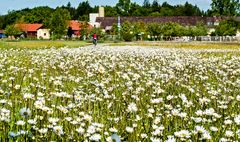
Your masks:
[{"label": "rounded green tree at right edge, below the tall dark tree", "polygon": [[216,27],[215,34],[218,36],[233,36],[236,35],[240,23],[234,19],[221,21]]}]

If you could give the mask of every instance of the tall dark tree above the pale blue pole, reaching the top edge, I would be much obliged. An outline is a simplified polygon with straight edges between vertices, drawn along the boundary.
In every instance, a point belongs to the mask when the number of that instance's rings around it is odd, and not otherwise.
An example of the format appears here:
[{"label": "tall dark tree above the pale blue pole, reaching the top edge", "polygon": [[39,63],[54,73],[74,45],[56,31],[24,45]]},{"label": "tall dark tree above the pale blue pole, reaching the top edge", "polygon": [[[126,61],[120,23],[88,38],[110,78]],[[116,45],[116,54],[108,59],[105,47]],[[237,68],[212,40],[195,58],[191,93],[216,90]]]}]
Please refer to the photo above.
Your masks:
[{"label": "tall dark tree above the pale blue pole, reaching the top edge", "polygon": [[116,4],[117,12],[121,16],[129,16],[131,0],[119,0]]}]

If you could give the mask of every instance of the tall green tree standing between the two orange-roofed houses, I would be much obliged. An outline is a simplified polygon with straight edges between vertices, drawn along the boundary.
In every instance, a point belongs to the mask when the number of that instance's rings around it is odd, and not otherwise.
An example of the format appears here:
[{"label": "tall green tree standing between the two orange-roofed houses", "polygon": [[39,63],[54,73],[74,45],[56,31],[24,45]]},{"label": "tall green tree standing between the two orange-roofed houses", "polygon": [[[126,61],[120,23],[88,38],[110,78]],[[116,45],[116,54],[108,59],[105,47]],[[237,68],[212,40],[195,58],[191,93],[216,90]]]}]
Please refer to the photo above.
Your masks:
[{"label": "tall green tree standing between the two orange-roofed houses", "polygon": [[67,34],[68,21],[70,13],[66,9],[58,8],[51,16],[50,29],[54,38],[60,39]]}]

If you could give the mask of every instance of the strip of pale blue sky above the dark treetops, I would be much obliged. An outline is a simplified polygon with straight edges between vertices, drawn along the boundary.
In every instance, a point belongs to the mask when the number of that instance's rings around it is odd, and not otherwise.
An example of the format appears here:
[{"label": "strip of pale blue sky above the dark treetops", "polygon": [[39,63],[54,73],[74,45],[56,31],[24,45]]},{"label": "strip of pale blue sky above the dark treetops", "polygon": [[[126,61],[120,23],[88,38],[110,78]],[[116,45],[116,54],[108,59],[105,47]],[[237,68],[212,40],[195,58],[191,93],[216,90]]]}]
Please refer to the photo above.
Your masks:
[{"label": "strip of pale blue sky above the dark treetops", "polygon": [[[0,15],[7,14],[9,10],[20,10],[23,8],[33,8],[37,6],[49,6],[55,8],[57,6],[67,5],[71,2],[73,7],[77,7],[80,2],[84,0],[0,0]],[[118,0],[88,0],[91,6],[94,5],[111,5],[114,6]],[[144,0],[131,0],[140,5],[143,4]],[[151,3],[153,0],[149,0]],[[164,1],[171,5],[184,4],[186,1],[197,5],[201,10],[207,10],[210,8],[211,0],[158,0],[159,3]]]}]

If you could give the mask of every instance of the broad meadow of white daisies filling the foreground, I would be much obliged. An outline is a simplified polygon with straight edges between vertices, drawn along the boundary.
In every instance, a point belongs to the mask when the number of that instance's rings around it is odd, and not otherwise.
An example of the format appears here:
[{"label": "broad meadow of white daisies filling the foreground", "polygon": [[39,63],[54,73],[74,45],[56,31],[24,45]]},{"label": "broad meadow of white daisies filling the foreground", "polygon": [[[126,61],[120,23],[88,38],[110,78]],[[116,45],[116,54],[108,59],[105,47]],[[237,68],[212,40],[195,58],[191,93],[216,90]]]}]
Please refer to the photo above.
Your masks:
[{"label": "broad meadow of white daisies filling the foreground", "polygon": [[240,139],[237,45],[136,44],[0,48],[0,141]]}]

